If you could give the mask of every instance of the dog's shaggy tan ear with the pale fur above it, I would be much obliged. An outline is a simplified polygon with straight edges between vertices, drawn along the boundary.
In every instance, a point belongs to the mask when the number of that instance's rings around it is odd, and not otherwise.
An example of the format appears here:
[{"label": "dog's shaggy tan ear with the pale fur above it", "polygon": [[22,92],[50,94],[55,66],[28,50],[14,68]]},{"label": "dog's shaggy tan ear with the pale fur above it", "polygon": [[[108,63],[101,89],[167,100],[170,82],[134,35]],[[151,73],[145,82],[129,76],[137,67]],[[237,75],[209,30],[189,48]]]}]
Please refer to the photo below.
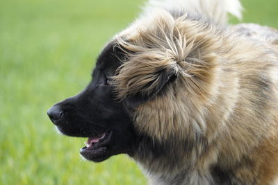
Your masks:
[{"label": "dog's shaggy tan ear with the pale fur above it", "polygon": [[177,53],[183,53],[176,46],[180,40],[173,35],[174,17],[169,12],[158,12],[146,22],[146,29],[143,26],[127,37],[117,37],[126,60],[114,77],[115,91],[129,107],[152,100],[167,89],[167,84],[177,78]]}]

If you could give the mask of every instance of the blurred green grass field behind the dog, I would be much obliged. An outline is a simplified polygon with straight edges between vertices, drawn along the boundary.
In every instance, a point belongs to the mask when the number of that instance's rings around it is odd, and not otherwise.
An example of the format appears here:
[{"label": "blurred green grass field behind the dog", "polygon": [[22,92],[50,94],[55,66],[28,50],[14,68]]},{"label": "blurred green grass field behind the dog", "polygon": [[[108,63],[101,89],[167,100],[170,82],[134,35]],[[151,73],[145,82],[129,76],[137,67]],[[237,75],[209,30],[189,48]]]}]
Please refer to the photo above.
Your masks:
[{"label": "blurred green grass field behind the dog", "polygon": [[[143,3],[0,1],[0,184],[147,184],[126,155],[81,160],[86,139],[57,134],[46,114],[88,84],[101,48]],[[242,3],[243,22],[278,28],[277,0]]]}]

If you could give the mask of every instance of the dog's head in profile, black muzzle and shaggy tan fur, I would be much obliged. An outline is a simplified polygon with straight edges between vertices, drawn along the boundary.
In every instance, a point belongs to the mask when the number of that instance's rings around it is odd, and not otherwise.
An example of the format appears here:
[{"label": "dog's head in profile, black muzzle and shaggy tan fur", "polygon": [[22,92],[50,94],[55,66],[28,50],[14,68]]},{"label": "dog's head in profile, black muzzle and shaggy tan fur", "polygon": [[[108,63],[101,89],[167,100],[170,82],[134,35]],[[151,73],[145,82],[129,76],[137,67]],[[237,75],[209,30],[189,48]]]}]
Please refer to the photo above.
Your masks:
[{"label": "dog's head in profile, black muzzle and shaggy tan fur", "polygon": [[215,55],[208,32],[198,33],[209,28],[196,19],[161,11],[138,20],[99,55],[88,87],[49,109],[60,132],[89,138],[83,157],[133,155],[144,138],[169,151],[173,138],[204,131],[198,118],[211,96]]}]

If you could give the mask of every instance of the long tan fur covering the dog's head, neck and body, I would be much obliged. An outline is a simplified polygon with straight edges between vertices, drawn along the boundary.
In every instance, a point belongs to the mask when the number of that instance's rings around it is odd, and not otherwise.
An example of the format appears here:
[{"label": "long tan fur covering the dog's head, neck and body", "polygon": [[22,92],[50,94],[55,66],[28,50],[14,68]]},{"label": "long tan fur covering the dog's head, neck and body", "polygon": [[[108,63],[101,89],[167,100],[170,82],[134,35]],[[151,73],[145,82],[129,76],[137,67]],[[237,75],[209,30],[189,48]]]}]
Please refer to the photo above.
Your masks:
[{"label": "long tan fur covering the dog's head, neck and body", "polygon": [[272,39],[254,37],[240,26],[174,17],[164,10],[142,19],[116,37],[128,55],[113,77],[118,98],[149,95],[161,70],[177,73],[165,94],[132,113],[138,132],[171,146],[159,159],[134,157],[150,182],[216,184],[213,169],[221,169],[234,184],[274,183],[277,31],[268,30]]}]

